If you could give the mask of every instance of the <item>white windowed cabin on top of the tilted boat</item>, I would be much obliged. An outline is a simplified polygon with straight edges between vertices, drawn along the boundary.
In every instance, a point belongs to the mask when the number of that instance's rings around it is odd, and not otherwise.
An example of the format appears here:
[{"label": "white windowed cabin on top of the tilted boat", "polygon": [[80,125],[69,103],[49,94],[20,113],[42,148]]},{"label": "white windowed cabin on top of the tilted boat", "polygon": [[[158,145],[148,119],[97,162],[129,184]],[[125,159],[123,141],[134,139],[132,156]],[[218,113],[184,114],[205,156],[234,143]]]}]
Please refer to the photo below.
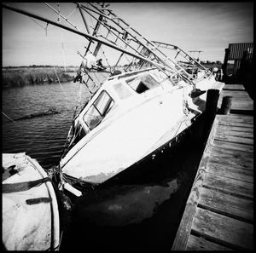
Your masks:
[{"label": "white windowed cabin on top of the tilted boat", "polygon": [[119,113],[145,101],[145,98],[172,86],[172,82],[155,68],[108,78],[75,119],[73,145],[113,114],[117,117]]}]

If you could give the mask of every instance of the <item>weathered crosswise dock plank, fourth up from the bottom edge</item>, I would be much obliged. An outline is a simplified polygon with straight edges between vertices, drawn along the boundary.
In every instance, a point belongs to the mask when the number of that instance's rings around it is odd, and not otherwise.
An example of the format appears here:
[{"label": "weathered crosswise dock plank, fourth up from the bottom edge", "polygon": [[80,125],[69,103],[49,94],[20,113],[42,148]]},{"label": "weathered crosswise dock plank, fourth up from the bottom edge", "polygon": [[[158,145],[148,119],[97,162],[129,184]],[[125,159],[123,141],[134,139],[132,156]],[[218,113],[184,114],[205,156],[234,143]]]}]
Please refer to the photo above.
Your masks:
[{"label": "weathered crosswise dock plank, fourth up from the bottom edge", "polygon": [[253,198],[253,183],[239,181],[224,176],[206,173],[203,186],[230,193],[233,196]]}]

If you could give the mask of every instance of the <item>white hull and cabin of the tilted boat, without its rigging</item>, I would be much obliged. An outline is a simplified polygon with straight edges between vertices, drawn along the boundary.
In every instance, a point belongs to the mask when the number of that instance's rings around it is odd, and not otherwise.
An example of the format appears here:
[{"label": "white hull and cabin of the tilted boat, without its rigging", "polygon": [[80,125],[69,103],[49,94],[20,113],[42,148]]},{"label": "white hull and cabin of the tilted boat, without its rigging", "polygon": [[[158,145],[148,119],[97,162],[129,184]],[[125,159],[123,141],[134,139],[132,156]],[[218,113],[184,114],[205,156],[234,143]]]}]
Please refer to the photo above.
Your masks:
[{"label": "white hull and cabin of the tilted boat, without its rigging", "polygon": [[62,173],[92,184],[107,181],[189,128],[205,109],[206,93],[191,97],[196,87],[223,86],[212,74],[193,89],[156,68],[108,78],[74,120]]}]

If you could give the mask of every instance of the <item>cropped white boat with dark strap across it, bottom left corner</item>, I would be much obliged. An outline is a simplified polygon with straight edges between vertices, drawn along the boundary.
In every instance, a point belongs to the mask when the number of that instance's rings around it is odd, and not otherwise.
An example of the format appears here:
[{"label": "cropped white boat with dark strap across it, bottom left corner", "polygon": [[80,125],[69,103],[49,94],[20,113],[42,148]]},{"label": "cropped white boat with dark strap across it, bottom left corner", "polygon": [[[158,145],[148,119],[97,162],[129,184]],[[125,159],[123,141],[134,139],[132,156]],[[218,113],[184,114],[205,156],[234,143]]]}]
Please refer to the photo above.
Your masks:
[{"label": "cropped white boat with dark strap across it, bottom left corner", "polygon": [[45,171],[25,153],[3,153],[2,170],[5,250],[57,250],[59,210]]}]

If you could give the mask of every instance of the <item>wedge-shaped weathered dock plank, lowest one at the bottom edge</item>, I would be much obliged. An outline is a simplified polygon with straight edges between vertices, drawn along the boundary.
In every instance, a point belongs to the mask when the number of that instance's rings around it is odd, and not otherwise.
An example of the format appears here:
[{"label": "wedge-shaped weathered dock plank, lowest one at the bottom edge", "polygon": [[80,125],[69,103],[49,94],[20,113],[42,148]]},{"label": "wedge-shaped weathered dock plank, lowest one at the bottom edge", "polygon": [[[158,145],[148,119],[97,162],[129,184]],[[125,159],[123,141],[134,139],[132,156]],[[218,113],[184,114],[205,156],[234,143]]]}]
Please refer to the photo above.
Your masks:
[{"label": "wedge-shaped weathered dock plank, lowest one at the bottom edge", "polygon": [[190,234],[186,250],[231,250],[219,244],[212,243],[201,237]]}]

